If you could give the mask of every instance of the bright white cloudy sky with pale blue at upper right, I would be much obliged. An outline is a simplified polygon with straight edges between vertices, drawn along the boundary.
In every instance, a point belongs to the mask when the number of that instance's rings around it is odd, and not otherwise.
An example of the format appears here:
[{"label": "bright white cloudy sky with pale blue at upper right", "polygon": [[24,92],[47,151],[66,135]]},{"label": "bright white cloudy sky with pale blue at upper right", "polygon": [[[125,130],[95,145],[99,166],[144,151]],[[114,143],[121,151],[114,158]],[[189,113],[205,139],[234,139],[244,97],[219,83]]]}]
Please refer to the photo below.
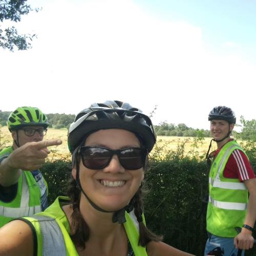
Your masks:
[{"label": "bright white cloudy sky with pale blue at upper right", "polygon": [[[0,49],[0,110],[37,106],[77,114],[120,100],[154,124],[208,129],[227,105],[255,119],[256,2],[28,0],[16,24],[36,33],[28,51]],[[1,25],[2,28],[6,24]]]}]

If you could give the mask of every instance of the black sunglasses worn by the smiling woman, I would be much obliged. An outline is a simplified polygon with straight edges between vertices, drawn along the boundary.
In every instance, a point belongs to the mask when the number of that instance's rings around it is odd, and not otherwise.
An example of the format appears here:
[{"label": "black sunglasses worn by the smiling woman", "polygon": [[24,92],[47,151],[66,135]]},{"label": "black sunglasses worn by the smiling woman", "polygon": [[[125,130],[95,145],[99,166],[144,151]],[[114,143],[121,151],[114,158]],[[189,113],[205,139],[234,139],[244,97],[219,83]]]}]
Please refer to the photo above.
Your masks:
[{"label": "black sunglasses worn by the smiling woman", "polygon": [[112,150],[111,148],[101,146],[81,146],[78,154],[82,158],[83,165],[89,169],[102,169],[109,165],[114,155],[117,155],[123,168],[136,170],[145,164],[147,151],[141,147]]}]

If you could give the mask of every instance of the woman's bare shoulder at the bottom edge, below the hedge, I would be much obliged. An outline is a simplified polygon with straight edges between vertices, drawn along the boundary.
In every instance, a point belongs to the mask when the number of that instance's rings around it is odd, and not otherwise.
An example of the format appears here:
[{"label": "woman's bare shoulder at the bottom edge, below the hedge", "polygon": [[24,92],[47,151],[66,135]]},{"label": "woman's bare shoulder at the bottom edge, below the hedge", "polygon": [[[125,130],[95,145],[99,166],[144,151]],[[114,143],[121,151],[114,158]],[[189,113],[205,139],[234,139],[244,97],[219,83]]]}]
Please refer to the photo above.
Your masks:
[{"label": "woman's bare shoulder at the bottom edge, below the hedge", "polygon": [[163,242],[150,242],[147,245],[147,255],[148,256],[191,256],[193,254],[189,254],[187,252],[178,250],[168,244]]}]

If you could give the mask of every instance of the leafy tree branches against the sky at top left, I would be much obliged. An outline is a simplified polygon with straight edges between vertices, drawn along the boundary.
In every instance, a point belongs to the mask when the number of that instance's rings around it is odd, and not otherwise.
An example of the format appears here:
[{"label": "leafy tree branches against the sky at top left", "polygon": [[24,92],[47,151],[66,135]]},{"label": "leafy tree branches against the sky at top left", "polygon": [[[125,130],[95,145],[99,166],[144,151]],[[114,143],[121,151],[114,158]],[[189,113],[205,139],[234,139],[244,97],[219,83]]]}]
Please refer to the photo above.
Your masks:
[{"label": "leafy tree branches against the sky at top left", "polygon": [[[32,9],[25,2],[27,0],[0,0],[0,22],[2,24],[4,20],[20,22],[22,15],[28,14],[30,11],[38,11],[37,8]],[[31,48],[31,41],[35,34],[18,34],[14,26],[2,30],[2,24],[0,25],[0,47],[10,51],[13,51],[15,47],[18,50]]]}]

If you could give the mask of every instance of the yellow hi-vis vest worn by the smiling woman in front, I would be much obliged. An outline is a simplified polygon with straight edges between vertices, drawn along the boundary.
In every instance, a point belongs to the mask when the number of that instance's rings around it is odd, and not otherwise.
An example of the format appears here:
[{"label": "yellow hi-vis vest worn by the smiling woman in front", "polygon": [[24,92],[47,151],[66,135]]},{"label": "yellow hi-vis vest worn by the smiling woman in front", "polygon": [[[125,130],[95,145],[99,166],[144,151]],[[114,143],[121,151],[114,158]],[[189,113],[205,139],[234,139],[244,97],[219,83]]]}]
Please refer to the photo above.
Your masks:
[{"label": "yellow hi-vis vest worn by the smiling woman in front", "polygon": [[[75,245],[70,238],[69,222],[61,209],[61,203],[68,204],[69,198],[58,197],[44,212],[33,217],[23,218],[34,227],[37,239],[37,256],[78,256]],[[134,211],[129,214],[125,212],[125,220],[123,225],[135,256],[147,256],[145,247],[138,245],[139,225]]]}]

